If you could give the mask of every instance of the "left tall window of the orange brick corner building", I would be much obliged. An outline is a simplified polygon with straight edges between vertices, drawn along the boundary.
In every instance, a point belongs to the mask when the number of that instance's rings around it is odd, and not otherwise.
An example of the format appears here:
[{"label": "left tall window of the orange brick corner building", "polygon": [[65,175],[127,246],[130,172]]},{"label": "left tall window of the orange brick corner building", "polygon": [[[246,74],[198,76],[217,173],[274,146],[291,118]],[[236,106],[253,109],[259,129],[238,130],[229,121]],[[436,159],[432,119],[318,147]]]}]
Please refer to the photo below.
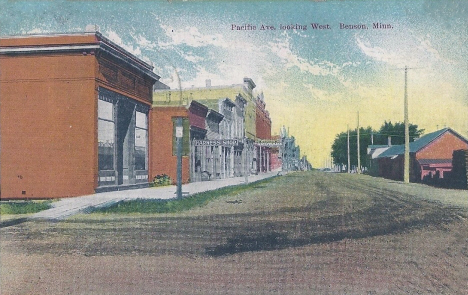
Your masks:
[{"label": "left tall window of the orange brick corner building", "polygon": [[114,105],[98,100],[99,170],[114,170],[115,122]]}]

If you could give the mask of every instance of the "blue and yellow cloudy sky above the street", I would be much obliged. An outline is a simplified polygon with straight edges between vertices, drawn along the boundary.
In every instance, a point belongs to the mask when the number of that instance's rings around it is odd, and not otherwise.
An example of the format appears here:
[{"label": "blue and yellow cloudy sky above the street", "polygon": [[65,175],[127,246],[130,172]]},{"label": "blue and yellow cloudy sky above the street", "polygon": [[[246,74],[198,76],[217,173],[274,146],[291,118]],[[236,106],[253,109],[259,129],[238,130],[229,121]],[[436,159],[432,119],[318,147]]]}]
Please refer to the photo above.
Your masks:
[{"label": "blue and yellow cloudy sky above the street", "polygon": [[358,113],[377,130],[403,121],[405,66],[410,122],[468,137],[468,1],[0,2],[1,36],[98,25],[172,89],[252,78],[272,133],[286,126],[314,167]]}]

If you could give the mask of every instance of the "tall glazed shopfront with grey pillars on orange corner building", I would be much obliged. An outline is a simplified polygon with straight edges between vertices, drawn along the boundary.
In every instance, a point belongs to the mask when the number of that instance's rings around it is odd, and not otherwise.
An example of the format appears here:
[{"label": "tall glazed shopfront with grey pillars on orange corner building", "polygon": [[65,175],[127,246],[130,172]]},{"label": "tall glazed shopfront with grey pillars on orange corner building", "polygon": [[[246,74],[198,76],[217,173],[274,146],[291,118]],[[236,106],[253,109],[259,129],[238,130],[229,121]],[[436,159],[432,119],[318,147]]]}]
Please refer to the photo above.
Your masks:
[{"label": "tall glazed shopfront with grey pillars on orange corner building", "polygon": [[99,186],[148,182],[149,107],[99,88]]}]

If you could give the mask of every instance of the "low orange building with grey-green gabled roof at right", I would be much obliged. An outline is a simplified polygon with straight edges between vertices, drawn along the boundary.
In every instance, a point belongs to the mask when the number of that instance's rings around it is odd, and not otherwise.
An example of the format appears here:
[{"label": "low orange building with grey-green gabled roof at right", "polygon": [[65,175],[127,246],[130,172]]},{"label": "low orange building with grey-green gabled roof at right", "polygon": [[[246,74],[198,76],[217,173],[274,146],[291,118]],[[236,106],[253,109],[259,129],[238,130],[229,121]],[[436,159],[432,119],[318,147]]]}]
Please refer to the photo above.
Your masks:
[{"label": "low orange building with grey-green gabled roof at right", "polygon": [[[373,158],[377,175],[389,179],[403,180],[404,145],[393,145],[379,150]],[[444,128],[410,143],[410,181],[431,182],[445,178],[450,173],[453,152],[468,149],[468,141],[450,128]],[[375,170],[374,170],[375,171]]]}]

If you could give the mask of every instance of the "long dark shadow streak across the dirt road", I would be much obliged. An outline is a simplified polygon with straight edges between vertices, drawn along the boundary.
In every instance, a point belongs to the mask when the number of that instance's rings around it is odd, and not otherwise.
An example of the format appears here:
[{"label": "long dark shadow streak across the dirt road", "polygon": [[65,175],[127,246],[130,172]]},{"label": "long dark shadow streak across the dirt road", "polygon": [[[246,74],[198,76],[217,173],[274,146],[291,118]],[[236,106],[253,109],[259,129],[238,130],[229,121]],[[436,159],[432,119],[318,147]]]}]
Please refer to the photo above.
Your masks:
[{"label": "long dark shadow streak across the dirt road", "polygon": [[[328,201],[324,203],[330,206]],[[344,215],[315,220],[277,221],[238,228],[237,234],[228,238],[226,243],[207,247],[205,253],[217,257],[330,243],[343,239],[361,239],[429,226],[440,229],[444,225],[459,221],[461,217],[461,210],[455,208],[443,208],[427,202],[421,205],[409,201],[380,199],[366,210]]]}]

